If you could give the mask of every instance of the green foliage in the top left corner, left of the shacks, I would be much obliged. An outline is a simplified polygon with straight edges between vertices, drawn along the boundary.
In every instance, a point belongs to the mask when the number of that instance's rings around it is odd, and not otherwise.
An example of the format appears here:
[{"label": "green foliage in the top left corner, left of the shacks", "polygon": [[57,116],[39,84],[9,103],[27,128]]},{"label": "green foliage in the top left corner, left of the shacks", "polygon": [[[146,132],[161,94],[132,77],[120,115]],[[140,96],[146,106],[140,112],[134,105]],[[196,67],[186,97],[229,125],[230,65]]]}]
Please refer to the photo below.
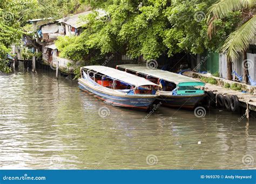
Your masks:
[{"label": "green foliage in the top left corner, left of the shacks", "polygon": [[[76,13],[83,5],[79,0],[1,0],[0,1],[0,71],[9,72],[6,54],[11,44],[19,43],[23,30],[31,31],[28,20],[57,19]],[[23,29],[24,28],[24,29]]]}]

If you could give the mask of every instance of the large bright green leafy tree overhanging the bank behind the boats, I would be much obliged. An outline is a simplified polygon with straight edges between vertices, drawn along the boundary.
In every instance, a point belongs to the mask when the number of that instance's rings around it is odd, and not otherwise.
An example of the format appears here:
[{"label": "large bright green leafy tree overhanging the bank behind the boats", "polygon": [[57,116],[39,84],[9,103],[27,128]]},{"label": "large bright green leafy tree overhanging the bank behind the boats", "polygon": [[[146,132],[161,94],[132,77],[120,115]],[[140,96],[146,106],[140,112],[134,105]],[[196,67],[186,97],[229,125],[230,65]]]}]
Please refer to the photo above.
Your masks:
[{"label": "large bright green leafy tree overhanging the bank behind the boats", "polygon": [[[218,52],[225,38],[235,29],[240,12],[215,19],[218,32],[207,36],[206,12],[215,1],[83,1],[92,8],[103,8],[109,18],[86,17],[89,24],[79,37],[59,38],[56,45],[64,58],[95,61],[107,53],[125,49],[132,58],[157,59],[179,52]],[[106,21],[108,20],[108,21]]]}]

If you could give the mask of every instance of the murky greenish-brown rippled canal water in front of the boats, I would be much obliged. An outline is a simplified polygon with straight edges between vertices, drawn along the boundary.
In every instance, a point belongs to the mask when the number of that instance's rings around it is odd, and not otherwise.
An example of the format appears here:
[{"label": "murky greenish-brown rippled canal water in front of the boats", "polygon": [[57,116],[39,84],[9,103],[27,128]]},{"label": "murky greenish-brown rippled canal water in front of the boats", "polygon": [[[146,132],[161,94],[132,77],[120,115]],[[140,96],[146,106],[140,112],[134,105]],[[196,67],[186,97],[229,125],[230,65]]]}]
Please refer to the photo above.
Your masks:
[{"label": "murky greenish-brown rippled canal water in front of the boats", "polygon": [[[77,81],[0,74],[1,169],[255,169],[256,122],[212,109],[112,107]],[[253,122],[254,121],[254,122]]]}]

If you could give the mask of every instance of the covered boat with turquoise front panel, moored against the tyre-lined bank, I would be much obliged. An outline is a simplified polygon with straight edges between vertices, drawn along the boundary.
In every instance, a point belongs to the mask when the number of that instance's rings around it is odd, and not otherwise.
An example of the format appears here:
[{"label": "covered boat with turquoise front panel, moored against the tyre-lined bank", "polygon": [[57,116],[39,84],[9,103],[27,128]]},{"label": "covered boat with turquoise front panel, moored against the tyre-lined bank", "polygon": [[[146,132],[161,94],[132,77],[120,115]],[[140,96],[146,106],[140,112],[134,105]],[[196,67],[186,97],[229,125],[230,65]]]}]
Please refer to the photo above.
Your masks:
[{"label": "covered boat with turquoise front panel, moored against the tyre-lined bank", "polygon": [[206,96],[205,83],[191,77],[142,65],[117,65],[116,69],[159,84],[157,101],[167,107],[193,109]]}]

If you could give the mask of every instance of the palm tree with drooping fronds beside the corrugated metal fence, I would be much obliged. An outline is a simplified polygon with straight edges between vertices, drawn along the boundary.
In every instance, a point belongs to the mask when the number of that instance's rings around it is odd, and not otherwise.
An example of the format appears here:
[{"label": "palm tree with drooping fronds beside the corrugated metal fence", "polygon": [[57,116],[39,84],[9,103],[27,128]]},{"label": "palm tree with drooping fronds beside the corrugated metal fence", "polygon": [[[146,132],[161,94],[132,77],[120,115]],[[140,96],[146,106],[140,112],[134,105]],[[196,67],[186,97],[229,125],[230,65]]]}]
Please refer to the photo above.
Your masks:
[{"label": "palm tree with drooping fronds beside the corrugated metal fence", "polygon": [[226,38],[223,52],[227,52],[228,79],[232,79],[232,59],[237,59],[242,52],[244,59],[244,80],[248,83],[248,68],[246,50],[255,37],[256,17],[255,0],[220,0],[208,10],[208,35],[211,37],[215,29],[215,19],[226,18],[230,12],[241,12],[240,23],[237,28]]}]

